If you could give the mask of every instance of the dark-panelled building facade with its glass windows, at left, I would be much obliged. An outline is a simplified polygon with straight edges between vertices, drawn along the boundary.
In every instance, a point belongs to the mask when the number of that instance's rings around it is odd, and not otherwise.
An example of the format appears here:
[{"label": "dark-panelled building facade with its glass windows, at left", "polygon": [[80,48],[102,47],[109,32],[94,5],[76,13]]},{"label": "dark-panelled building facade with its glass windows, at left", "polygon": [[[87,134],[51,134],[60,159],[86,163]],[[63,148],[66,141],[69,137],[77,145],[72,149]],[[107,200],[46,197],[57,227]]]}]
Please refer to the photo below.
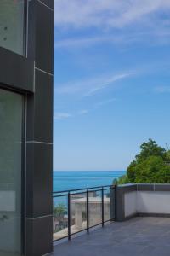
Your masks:
[{"label": "dark-panelled building facade with its glass windows, at left", "polygon": [[0,256],[53,251],[54,0],[0,1]]}]

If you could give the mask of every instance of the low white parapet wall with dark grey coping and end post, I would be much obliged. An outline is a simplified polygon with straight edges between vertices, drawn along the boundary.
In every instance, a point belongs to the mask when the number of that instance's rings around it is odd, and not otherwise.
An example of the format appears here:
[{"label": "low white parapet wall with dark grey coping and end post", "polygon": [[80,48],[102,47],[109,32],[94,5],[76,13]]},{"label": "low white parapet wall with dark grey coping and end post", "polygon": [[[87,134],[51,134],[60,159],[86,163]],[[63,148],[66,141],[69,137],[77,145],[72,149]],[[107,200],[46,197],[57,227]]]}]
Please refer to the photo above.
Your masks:
[{"label": "low white parapet wall with dark grey coping and end post", "polygon": [[170,184],[126,184],[116,189],[116,220],[170,217]]}]

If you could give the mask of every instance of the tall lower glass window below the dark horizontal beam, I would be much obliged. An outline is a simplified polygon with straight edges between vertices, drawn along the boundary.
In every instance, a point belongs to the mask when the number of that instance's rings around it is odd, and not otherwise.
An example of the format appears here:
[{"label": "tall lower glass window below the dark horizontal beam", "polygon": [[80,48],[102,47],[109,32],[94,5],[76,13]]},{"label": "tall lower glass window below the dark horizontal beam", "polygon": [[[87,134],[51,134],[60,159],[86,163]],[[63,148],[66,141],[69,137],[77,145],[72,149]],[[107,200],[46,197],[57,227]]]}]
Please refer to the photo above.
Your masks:
[{"label": "tall lower glass window below the dark horizontal beam", "polygon": [[23,98],[0,89],[0,256],[21,255]]}]

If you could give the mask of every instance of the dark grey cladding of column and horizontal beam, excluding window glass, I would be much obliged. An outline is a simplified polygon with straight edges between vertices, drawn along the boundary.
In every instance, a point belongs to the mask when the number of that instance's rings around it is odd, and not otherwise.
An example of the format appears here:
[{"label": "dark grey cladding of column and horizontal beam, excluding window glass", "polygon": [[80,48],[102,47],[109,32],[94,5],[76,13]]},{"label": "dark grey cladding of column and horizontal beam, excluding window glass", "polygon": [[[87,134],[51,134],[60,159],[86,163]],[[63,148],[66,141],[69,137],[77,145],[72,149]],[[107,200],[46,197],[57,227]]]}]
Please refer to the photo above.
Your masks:
[{"label": "dark grey cladding of column and horizontal beam, excluding window glass", "polygon": [[26,98],[22,235],[26,256],[41,256],[53,251],[54,0],[27,3],[26,55],[0,47],[0,87]]}]

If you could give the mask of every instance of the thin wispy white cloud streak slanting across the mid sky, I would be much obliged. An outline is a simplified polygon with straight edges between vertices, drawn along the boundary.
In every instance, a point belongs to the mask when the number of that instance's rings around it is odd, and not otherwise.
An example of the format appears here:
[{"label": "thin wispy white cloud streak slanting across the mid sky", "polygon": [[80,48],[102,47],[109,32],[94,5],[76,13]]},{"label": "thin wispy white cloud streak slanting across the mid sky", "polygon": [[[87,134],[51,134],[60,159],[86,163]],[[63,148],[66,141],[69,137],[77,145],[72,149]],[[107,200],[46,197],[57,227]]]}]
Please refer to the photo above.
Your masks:
[{"label": "thin wispy white cloud streak slanting across the mid sky", "polygon": [[79,95],[82,97],[93,96],[99,90],[104,90],[112,84],[116,84],[119,80],[127,79],[134,73],[116,73],[110,76],[100,76],[94,79],[83,79],[79,81],[71,81],[66,84],[55,86],[55,93],[58,95]]}]

